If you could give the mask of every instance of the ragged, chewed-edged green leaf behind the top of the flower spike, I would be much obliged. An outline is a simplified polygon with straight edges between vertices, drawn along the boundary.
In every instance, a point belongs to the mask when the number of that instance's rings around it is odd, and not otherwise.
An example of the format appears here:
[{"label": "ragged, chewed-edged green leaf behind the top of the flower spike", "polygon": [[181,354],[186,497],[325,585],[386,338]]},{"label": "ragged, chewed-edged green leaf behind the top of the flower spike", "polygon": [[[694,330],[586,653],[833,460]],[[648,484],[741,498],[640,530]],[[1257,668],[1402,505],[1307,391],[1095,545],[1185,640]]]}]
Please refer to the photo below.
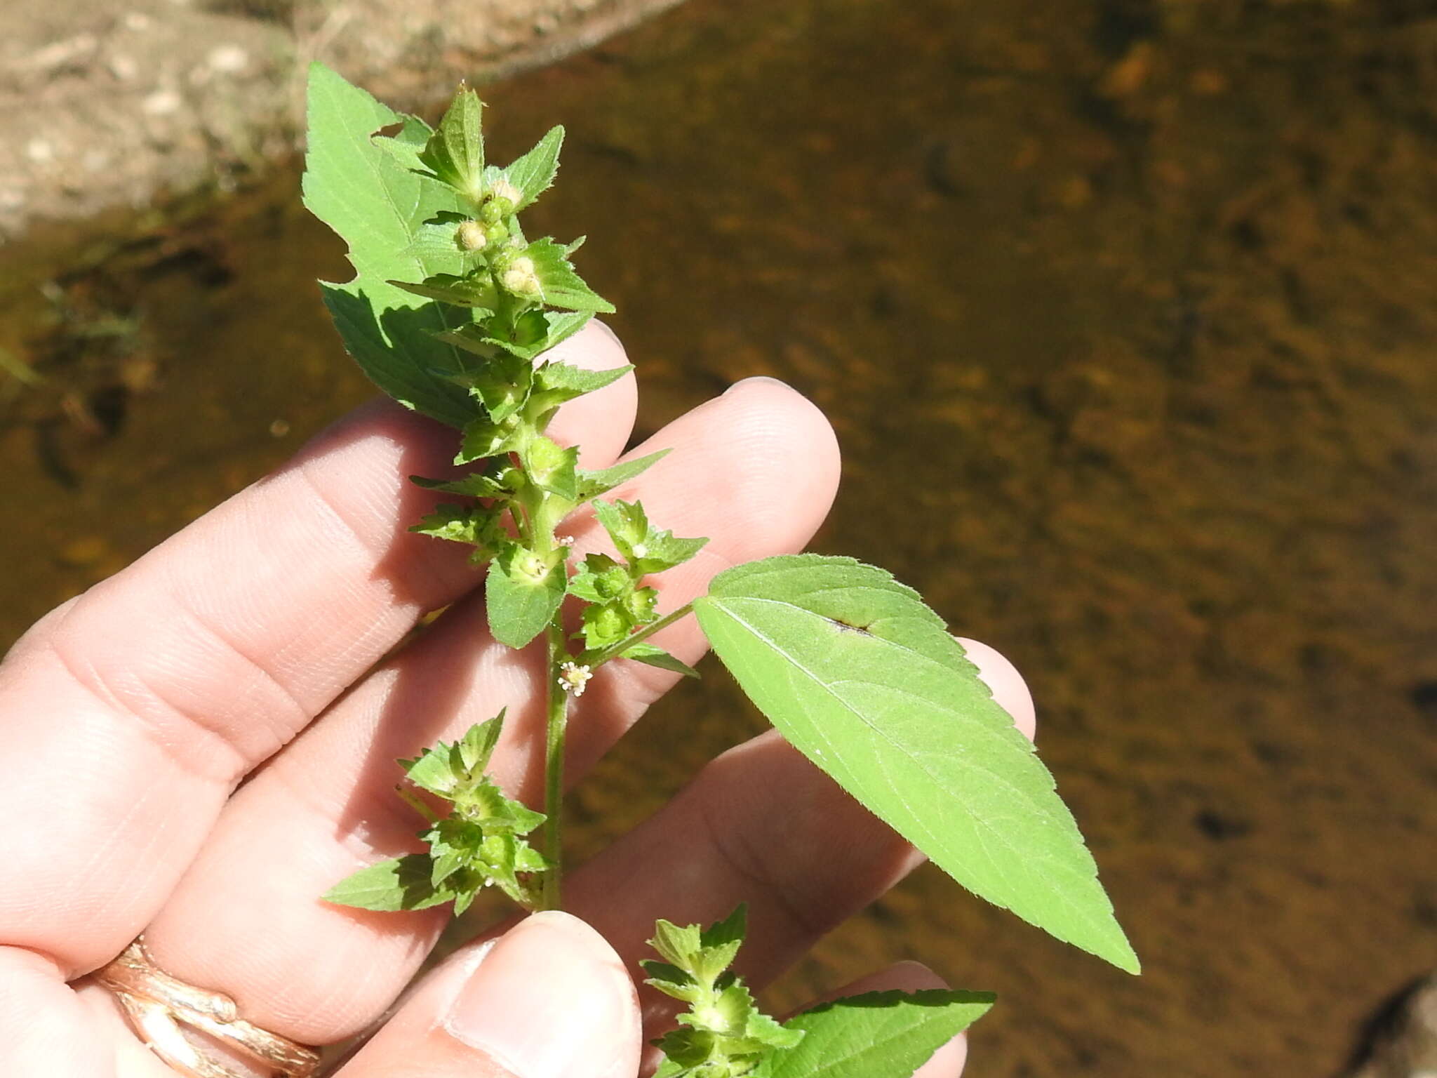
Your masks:
[{"label": "ragged, chewed-edged green leaf behind the top of the flower spike", "polygon": [[[394,124],[402,124],[398,139],[374,138]],[[305,206],[349,244],[355,267],[349,283],[320,285],[325,306],[375,385],[405,407],[463,427],[476,405],[443,374],[470,362],[433,333],[457,329],[470,315],[387,283],[453,269],[408,250],[424,221],[464,210],[451,188],[402,162],[407,139],[421,132],[412,116],[385,108],[323,65],[310,66]]]}]

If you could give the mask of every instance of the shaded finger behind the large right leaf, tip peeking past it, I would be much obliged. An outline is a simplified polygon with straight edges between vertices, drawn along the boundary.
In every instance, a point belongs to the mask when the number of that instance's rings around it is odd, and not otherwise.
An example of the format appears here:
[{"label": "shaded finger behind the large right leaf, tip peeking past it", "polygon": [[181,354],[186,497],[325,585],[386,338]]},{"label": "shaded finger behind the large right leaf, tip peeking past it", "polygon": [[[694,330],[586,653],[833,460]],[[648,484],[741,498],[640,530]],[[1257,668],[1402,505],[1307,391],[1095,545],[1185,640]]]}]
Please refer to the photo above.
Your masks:
[{"label": "shaded finger behind the large right leaf, tip peeking past it", "polygon": [[[1026,686],[992,648],[964,641],[1010,714]],[[992,678],[992,680],[990,680]],[[770,730],[710,763],[652,818],[578,870],[568,908],[637,969],[658,917],[718,920],[749,904],[739,969],[754,987],[884,894],[923,857]],[[671,1012],[644,990],[645,1013]]]}]

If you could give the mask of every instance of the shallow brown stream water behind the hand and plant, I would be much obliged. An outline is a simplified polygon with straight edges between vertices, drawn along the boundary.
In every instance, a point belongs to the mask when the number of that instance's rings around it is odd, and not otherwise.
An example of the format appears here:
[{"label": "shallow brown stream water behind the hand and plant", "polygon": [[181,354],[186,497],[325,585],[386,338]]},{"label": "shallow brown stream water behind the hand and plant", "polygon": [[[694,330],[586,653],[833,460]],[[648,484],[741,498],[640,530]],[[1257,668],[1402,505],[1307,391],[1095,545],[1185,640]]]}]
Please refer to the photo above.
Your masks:
[{"label": "shallow brown stream water behind the hand and plant", "polygon": [[[925,871],[777,1003],[911,956],[1003,998],[974,1075],[1325,1075],[1437,964],[1430,9],[691,0],[487,93],[500,152],[569,126],[536,227],[589,234],[645,430],[793,382],[846,451],[819,548],[1026,671],[1147,969]],[[59,388],[0,434],[0,638],[368,394],[293,188],[72,273],[68,335],[3,300]],[[105,310],[138,332],[76,345]],[[757,729],[685,693],[582,852]]]}]

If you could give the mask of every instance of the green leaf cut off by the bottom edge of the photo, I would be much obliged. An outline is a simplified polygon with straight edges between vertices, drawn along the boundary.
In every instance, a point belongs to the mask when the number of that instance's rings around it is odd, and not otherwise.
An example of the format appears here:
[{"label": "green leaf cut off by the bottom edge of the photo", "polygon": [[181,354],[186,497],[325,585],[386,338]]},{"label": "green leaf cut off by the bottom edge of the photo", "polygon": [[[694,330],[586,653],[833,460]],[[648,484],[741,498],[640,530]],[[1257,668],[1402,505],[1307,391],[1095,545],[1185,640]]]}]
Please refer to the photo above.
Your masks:
[{"label": "green leaf cut off by the bottom edge of the photo", "polygon": [[987,992],[871,992],[785,1022],[803,1041],[764,1059],[759,1078],[911,1078],[993,1006]]}]

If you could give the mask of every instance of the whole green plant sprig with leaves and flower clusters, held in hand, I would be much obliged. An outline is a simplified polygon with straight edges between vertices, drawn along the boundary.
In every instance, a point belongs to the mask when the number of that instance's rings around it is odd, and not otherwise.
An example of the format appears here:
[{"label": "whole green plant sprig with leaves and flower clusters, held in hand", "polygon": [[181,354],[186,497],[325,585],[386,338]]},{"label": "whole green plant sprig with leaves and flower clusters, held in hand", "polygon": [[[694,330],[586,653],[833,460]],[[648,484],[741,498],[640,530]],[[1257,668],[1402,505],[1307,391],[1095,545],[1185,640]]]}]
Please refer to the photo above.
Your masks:
[{"label": "whole green plant sprig with leaves and flower clusters, held in hand", "polygon": [[[483,103],[460,88],[437,128],[315,65],[305,204],[349,244],[355,276],[322,285],[349,354],[405,407],[456,428],[443,500],[412,530],[487,563],[493,637],[543,648],[545,812],[486,775],[503,714],[401,760],[424,852],[364,868],[325,897],[369,910],[453,903],[483,887],[560,904],[563,747],[570,700],[615,660],[697,677],[651,637],[690,612],[779,732],[976,894],[1104,959],[1138,962],[1052,776],[992,699],[943,619],[882,569],[793,555],[740,565],[660,614],[652,576],[704,539],[655,528],[614,497],[664,453],[598,471],[549,437],[568,401],[631,368],[589,371],[552,349],[614,308],[578,275],[581,240],[525,236],[519,214],[559,168],[563,128],[507,167],[486,160]],[[589,505],[608,552],[572,556],[558,529]],[[543,828],[545,854],[527,835]],[[688,1005],[661,1039],[661,1078],[905,1078],[990,996],[875,993],[786,1023],[730,972],[740,907],[701,930],[660,921],[650,985]]]}]

